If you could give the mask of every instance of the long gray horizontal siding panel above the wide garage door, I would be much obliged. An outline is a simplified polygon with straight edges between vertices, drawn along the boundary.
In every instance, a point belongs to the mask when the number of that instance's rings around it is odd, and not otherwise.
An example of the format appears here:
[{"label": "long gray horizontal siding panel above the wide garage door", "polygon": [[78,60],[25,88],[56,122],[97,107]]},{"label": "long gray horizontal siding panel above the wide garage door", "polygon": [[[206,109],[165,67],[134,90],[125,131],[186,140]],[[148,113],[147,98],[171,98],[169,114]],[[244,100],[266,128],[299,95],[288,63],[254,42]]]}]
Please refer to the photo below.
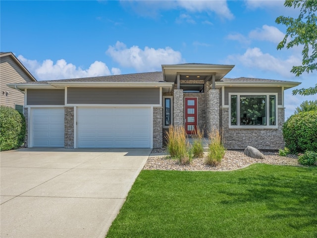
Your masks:
[{"label": "long gray horizontal siding panel above the wide garage door", "polygon": [[68,104],[159,104],[159,88],[68,88]]}]

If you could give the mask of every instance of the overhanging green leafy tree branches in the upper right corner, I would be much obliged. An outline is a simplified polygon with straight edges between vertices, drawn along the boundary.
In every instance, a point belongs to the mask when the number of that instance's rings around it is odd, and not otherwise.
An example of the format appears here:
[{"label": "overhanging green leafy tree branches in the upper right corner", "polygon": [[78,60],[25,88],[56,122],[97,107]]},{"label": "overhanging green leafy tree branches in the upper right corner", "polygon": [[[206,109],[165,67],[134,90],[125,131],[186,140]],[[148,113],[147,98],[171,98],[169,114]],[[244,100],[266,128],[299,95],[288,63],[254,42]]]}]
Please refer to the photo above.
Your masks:
[{"label": "overhanging green leafy tree branches in the upper right corner", "polygon": [[[300,8],[298,18],[279,16],[275,22],[287,26],[284,39],[277,49],[287,49],[302,45],[302,65],[293,66],[291,72],[296,76],[303,72],[317,70],[317,0],[285,0],[284,6]],[[288,41],[288,39],[290,41]],[[293,95],[314,95],[317,93],[317,84],[308,89],[302,88],[293,91]]]}]

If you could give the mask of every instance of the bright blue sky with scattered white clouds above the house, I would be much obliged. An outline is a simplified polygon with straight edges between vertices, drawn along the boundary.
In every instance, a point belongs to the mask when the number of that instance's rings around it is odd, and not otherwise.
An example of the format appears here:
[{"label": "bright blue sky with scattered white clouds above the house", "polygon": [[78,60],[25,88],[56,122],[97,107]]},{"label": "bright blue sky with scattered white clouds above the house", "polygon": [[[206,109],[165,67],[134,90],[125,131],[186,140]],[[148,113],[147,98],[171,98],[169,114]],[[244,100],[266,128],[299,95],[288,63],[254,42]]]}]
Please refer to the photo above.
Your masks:
[{"label": "bright blue sky with scattered white clouds above the house", "polygon": [[[234,64],[226,77],[317,83],[295,77],[301,47],[276,50],[296,17],[282,0],[0,2],[0,50],[13,52],[38,80],[160,71],[161,64]],[[285,91],[285,118],[305,100]]]}]

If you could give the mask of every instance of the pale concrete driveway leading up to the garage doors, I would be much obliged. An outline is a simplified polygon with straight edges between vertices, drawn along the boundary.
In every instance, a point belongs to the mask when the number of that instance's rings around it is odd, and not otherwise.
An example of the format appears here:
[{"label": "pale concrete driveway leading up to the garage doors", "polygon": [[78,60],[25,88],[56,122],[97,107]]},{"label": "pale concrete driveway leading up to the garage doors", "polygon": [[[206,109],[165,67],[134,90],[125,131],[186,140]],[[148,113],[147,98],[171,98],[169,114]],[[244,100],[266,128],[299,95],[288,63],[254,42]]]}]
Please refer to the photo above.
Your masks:
[{"label": "pale concrete driveway leading up to the garage doors", "polygon": [[1,152],[0,237],[104,238],[150,152]]}]

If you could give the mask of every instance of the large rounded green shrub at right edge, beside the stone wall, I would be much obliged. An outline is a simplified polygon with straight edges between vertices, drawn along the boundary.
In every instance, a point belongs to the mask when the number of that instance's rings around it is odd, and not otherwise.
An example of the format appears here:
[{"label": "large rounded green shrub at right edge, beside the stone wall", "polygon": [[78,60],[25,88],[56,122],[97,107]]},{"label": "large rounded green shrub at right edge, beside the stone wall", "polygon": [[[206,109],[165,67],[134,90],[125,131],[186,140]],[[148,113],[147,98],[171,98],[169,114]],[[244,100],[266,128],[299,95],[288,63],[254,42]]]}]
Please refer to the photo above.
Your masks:
[{"label": "large rounded green shrub at right edge, beside the stone wall", "polygon": [[290,153],[317,152],[317,111],[301,112],[287,119],[283,137]]}]

